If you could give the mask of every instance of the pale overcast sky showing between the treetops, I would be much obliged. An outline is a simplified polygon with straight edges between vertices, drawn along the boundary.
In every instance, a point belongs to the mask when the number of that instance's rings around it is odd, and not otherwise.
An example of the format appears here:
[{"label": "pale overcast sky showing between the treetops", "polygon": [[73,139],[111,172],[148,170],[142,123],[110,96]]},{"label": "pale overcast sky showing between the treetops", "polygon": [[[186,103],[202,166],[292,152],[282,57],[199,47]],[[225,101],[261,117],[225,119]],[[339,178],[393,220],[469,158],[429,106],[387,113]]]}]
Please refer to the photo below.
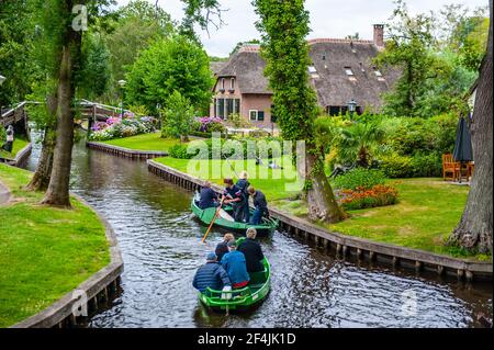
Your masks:
[{"label": "pale overcast sky showing between the treetops", "polygon": [[[155,1],[147,0],[151,3]],[[117,0],[126,4],[130,0]],[[259,38],[254,23],[257,15],[250,0],[221,0],[227,10],[223,14],[225,22],[220,30],[210,29],[201,32],[201,41],[211,56],[226,57],[238,42]],[[487,0],[408,0],[412,13],[436,11],[445,4],[464,3],[470,9],[487,5]],[[183,15],[183,4],[180,0],[158,0],[173,20],[180,21]],[[359,33],[360,38],[372,38],[372,24],[385,22],[394,9],[393,0],[306,0],[311,13],[312,33],[308,38],[337,37]]]}]

